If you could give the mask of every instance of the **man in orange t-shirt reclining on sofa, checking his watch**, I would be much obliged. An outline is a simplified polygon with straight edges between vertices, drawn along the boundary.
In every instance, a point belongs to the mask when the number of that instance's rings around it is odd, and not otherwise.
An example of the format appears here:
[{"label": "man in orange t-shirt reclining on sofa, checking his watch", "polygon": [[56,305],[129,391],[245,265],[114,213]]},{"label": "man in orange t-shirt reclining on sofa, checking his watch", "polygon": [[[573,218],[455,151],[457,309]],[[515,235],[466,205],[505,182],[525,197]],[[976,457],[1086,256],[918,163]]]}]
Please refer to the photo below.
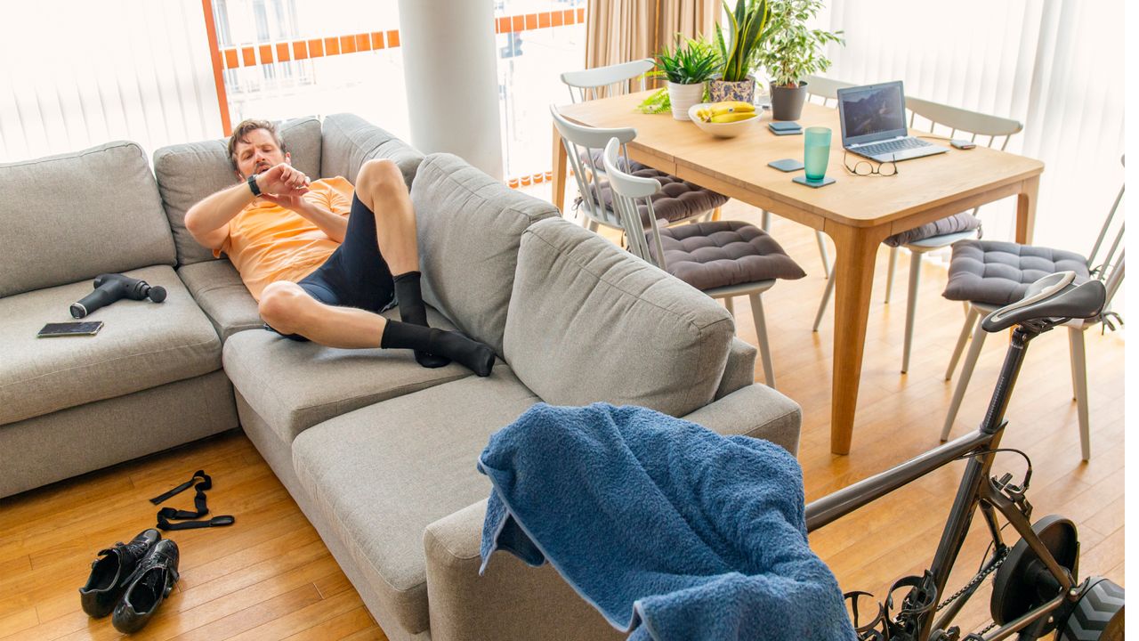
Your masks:
[{"label": "man in orange t-shirt reclining on sofa, checking his watch", "polygon": [[[395,163],[366,162],[354,194],[342,177],[310,181],[260,120],[238,124],[228,152],[241,181],[190,208],[186,228],[229,257],[267,327],[329,347],[412,349],[424,367],[454,360],[490,374],[489,346],[427,325],[416,214]],[[396,303],[402,322],[379,315]]]}]

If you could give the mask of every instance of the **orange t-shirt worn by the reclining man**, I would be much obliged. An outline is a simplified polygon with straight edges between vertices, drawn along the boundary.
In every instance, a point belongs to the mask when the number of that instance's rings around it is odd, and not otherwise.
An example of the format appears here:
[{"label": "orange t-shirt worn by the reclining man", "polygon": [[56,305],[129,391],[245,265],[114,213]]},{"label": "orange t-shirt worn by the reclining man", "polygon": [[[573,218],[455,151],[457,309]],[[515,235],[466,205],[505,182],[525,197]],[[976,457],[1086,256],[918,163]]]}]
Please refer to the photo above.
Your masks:
[{"label": "orange t-shirt worn by the reclining man", "polygon": [[[346,179],[325,178],[309,186],[303,197],[333,213],[347,217],[352,210],[352,184]],[[269,201],[256,200],[229,221],[229,235],[214,258],[222,252],[241,274],[253,298],[273,281],[297,282],[316,271],[339,243],[298,213]]]}]

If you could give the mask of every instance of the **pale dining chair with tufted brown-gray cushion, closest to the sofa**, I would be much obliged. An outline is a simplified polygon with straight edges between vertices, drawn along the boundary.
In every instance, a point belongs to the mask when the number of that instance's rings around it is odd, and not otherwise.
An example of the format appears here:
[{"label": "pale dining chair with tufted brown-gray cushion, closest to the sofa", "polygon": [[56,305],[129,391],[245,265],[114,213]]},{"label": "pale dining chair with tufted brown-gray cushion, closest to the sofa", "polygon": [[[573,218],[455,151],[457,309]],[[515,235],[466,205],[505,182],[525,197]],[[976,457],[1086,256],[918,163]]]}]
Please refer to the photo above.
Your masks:
[{"label": "pale dining chair with tufted brown-gray cushion, closest to the sofa", "polygon": [[[731,299],[748,297],[764,382],[775,388],[771,347],[760,297],[776,279],[802,278],[805,276],[803,269],[775,238],[746,222],[715,220],[662,229],[654,201],[662,189],[661,181],[624,171],[628,167],[624,145],[625,141],[616,136],[609,138],[601,162],[613,187],[614,210],[629,238],[629,251],[713,299],[723,299],[732,315]],[[645,218],[649,221],[647,233],[641,225]]]}]

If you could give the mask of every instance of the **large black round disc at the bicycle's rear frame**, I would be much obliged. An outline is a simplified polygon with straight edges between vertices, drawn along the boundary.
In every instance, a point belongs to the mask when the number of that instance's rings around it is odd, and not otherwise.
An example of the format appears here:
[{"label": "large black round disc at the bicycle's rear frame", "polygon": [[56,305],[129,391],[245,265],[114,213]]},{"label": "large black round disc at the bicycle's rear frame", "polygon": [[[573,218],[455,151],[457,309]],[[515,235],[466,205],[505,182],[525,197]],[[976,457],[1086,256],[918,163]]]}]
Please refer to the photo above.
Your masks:
[{"label": "large black round disc at the bicycle's rear frame", "polygon": [[[1049,514],[1033,524],[1032,530],[1056,562],[1074,574],[1080,554],[1075,524],[1064,517]],[[989,609],[995,623],[1009,623],[1056,597],[1055,586],[1040,584],[1034,578],[1040,576],[1041,570],[1047,573],[1043,561],[1022,538],[1013,546],[993,578]],[[1055,627],[1055,623],[1048,624],[1042,633],[1051,632]]]}]

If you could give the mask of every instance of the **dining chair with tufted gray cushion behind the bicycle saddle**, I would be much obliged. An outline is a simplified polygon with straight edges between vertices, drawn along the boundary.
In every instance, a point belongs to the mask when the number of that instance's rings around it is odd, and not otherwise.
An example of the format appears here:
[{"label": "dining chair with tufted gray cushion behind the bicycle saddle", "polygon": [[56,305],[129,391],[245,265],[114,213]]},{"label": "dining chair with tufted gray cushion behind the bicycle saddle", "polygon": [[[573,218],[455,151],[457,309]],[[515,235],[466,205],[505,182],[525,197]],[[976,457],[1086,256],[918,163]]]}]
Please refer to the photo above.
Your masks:
[{"label": "dining chair with tufted gray cushion behind the bicycle saddle", "polygon": [[[953,245],[953,258],[949,266],[949,284],[943,294],[949,300],[966,301],[968,315],[965,326],[957,339],[953,348],[953,356],[950,358],[949,367],[945,370],[945,380],[953,376],[953,370],[961,357],[965,343],[973,333],[973,343],[969,346],[968,355],[961,365],[961,373],[957,380],[957,388],[953,390],[953,399],[949,405],[949,413],[945,415],[945,424],[941,430],[941,440],[949,438],[949,432],[953,428],[953,421],[961,408],[961,400],[965,398],[965,390],[969,386],[973,370],[981,355],[981,347],[984,344],[985,332],[977,319],[984,315],[992,314],[1001,307],[1019,300],[1029,285],[1048,274],[1072,270],[1076,274],[1074,284],[1080,284],[1088,279],[1098,279],[1104,283],[1107,290],[1107,299],[1104,303],[1104,313],[1096,318],[1087,320],[1074,319],[1067,324],[1068,347],[1071,349],[1072,365],[1072,390],[1076,401],[1076,416],[1080,422],[1080,449],[1083,460],[1091,456],[1091,439],[1088,424],[1088,365],[1084,358],[1083,333],[1099,323],[1114,325],[1111,318],[1118,318],[1111,311],[1112,298],[1123,283],[1124,275],[1124,243],[1123,228],[1124,220],[1118,221],[1118,228],[1114,232],[1111,245],[1105,241],[1112,235],[1115,213],[1123,201],[1123,187],[1115,197],[1104,220],[1104,226],[1099,230],[1096,244],[1087,258],[1083,255],[1049,248],[1033,245],[1021,245],[1017,243],[1005,243],[997,241],[962,241]],[[1100,250],[1104,250],[1100,257]],[[976,331],[974,331],[976,325]]]}]

